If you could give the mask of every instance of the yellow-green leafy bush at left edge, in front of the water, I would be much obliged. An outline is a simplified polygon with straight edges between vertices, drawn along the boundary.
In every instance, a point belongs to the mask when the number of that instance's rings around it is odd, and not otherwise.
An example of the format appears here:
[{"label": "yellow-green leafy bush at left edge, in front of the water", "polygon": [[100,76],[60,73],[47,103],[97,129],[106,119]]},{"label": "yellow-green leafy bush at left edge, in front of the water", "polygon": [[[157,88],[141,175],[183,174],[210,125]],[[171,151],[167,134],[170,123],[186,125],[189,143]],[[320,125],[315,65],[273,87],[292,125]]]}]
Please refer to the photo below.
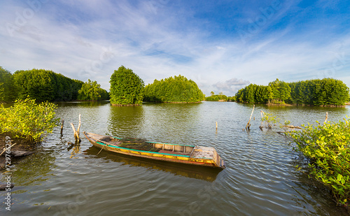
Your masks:
[{"label": "yellow-green leafy bush at left edge, in front of the water", "polygon": [[35,103],[34,99],[15,101],[10,108],[0,104],[0,132],[10,132],[27,143],[41,142],[59,124],[55,108],[54,103]]}]

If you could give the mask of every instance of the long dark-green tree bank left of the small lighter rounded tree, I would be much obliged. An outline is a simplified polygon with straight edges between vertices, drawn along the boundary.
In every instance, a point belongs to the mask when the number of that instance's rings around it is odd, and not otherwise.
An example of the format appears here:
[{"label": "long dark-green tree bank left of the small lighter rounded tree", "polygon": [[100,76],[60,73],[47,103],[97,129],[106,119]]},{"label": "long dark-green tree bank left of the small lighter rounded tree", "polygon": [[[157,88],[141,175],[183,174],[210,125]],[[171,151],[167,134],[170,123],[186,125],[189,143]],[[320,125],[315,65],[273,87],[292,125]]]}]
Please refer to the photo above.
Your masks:
[{"label": "long dark-green tree bank left of the small lighter rounded tree", "polygon": [[78,90],[84,83],[43,69],[16,71],[13,81],[18,90],[18,99],[27,99],[29,96],[37,101],[76,100]]}]

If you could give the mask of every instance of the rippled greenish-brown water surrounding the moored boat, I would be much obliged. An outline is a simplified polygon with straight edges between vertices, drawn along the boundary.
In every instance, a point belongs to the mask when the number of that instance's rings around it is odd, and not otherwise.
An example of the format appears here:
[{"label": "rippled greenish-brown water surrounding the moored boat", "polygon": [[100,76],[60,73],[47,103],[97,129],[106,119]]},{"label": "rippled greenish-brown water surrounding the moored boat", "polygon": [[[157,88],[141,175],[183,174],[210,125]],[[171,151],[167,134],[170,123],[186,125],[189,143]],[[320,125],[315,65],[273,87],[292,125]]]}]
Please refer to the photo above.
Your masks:
[{"label": "rippled greenish-brown water surrounding the moored boat", "polygon": [[[64,136],[57,127],[40,150],[12,167],[13,215],[346,215],[325,189],[295,171],[297,155],[288,138],[260,131],[260,110],[300,125],[339,121],[346,108],[256,106],[251,131],[244,127],[253,106],[241,103],[144,103],[113,107],[59,103]],[[73,131],[149,141],[215,147],[227,168],[221,172],[121,157],[85,138],[70,146]],[[255,120],[254,120],[255,118]],[[218,129],[216,124],[218,122]],[[2,176],[2,182],[5,182]],[[0,197],[5,197],[0,192]],[[8,214],[1,205],[0,215]]]}]

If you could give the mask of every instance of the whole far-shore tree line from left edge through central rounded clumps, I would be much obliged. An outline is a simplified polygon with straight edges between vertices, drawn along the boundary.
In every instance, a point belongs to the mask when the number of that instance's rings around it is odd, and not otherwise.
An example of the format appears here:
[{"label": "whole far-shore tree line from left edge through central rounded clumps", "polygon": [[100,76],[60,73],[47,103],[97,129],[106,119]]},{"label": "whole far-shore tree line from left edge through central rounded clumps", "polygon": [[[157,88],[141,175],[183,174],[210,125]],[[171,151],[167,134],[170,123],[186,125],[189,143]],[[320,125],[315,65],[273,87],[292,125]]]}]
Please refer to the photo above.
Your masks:
[{"label": "whole far-shore tree line from left edge through central rounded clumps", "polygon": [[0,67],[0,102],[17,99],[36,101],[97,101],[110,99],[117,106],[139,105],[142,101],[203,101],[205,96],[193,80],[183,75],[154,80],[145,87],[144,80],[125,66],[111,75],[111,94],[92,80],[83,82],[50,70],[32,69],[10,73]]}]

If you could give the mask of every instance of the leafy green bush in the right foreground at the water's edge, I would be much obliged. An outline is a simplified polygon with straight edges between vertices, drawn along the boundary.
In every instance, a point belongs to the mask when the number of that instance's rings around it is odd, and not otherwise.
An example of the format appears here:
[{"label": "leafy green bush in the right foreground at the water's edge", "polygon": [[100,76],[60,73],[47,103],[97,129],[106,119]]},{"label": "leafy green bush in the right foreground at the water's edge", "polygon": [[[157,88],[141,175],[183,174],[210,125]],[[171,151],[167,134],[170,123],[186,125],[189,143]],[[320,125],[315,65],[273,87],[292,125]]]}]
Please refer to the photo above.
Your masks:
[{"label": "leafy green bush in the right foreground at the water's edge", "polygon": [[309,177],[328,186],[338,203],[350,200],[350,124],[349,119],[334,124],[302,126],[288,136],[309,161]]}]

